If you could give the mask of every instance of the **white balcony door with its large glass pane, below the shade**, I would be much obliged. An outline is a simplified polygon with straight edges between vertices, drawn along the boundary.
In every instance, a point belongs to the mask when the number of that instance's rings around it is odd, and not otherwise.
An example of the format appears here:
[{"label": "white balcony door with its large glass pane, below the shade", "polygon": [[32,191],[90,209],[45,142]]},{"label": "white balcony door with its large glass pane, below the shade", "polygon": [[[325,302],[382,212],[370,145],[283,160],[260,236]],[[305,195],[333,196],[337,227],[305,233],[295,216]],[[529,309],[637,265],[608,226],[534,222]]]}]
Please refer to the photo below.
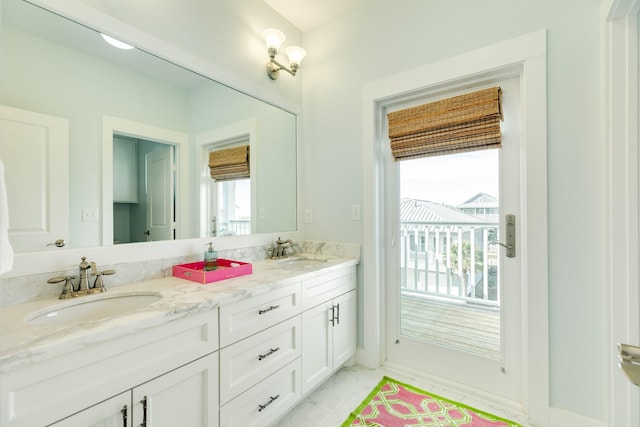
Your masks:
[{"label": "white balcony door with its large glass pane, below the shade", "polygon": [[[387,191],[415,185],[423,194],[404,200],[396,194],[389,199],[397,202],[387,206],[394,247],[386,270],[386,354],[389,362],[435,380],[521,402],[520,82],[491,85],[503,94],[501,149],[425,159],[430,163],[421,166],[417,182],[400,176],[405,161],[386,162]],[[473,157],[482,164],[475,171]],[[495,190],[478,186],[487,168],[496,172],[489,187]],[[445,175],[448,181],[441,179]],[[430,179],[420,181],[425,177]],[[459,191],[458,201],[436,199],[444,188],[446,195]],[[489,244],[504,243],[507,214],[516,219],[514,258]]]}]

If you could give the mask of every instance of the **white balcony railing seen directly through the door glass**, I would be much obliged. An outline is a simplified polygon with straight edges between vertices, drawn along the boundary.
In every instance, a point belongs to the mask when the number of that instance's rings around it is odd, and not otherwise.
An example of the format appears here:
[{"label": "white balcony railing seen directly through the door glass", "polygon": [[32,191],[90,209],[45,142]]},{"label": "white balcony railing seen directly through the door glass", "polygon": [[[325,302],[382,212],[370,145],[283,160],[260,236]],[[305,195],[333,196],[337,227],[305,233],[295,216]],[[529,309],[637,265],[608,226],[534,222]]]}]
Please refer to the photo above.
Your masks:
[{"label": "white balcony railing seen directly through the door glass", "polygon": [[402,290],[498,306],[497,222],[401,223]]}]

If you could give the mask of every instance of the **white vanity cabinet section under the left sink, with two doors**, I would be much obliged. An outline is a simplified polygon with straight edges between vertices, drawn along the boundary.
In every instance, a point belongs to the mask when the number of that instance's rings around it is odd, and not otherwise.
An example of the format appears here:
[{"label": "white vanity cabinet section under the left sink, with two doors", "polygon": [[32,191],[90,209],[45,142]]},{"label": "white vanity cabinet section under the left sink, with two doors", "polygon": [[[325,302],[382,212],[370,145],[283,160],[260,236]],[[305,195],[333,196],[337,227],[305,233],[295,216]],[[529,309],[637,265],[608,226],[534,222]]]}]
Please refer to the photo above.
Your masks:
[{"label": "white vanity cabinet section under the left sink, with two doors", "polygon": [[145,425],[146,396],[148,427],[215,427],[217,348],[217,309],[76,344],[73,352],[0,375],[0,426]]}]

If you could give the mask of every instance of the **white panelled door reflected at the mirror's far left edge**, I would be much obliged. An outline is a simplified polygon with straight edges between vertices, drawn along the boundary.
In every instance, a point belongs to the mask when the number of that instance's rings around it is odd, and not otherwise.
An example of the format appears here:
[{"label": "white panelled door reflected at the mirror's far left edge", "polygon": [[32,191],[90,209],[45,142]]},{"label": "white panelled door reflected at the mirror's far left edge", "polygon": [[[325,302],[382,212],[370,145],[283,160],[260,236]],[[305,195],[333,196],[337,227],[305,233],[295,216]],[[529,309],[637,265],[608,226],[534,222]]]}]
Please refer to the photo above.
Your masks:
[{"label": "white panelled door reflected at the mirror's far left edge", "polygon": [[4,166],[14,251],[68,240],[69,122],[0,106],[0,158],[11,159]]}]

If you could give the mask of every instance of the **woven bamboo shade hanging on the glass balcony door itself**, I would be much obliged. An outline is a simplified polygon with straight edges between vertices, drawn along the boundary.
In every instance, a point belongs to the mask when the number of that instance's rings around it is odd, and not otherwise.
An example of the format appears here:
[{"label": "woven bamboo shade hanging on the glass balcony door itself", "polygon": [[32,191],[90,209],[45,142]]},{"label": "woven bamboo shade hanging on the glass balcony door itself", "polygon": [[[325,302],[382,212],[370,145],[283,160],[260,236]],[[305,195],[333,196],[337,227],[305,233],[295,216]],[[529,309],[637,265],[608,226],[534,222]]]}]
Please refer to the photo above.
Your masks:
[{"label": "woven bamboo shade hanging on the glass balcony door itself", "polygon": [[396,160],[501,146],[502,90],[479,90],[388,114]]}]

